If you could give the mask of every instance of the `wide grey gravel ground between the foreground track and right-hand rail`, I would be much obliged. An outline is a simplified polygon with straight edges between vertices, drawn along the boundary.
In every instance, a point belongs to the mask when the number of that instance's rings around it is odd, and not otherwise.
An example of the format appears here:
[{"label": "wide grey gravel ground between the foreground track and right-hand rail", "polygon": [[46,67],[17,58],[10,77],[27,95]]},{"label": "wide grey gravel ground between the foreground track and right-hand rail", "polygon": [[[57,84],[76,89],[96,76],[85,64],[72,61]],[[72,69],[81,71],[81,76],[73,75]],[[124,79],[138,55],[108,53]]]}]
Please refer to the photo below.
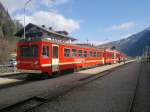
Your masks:
[{"label": "wide grey gravel ground between the foreground track and right-hand rail", "polygon": [[127,112],[139,65],[125,65],[30,112]]}]

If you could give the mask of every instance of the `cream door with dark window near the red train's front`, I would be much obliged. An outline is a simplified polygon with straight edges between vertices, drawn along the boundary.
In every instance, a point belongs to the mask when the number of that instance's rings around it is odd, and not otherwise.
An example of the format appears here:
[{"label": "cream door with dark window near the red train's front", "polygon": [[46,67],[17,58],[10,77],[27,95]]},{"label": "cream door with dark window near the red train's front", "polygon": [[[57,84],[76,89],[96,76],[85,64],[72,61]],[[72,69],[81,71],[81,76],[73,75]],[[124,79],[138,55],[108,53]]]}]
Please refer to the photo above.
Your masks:
[{"label": "cream door with dark window near the red train's front", "polygon": [[59,71],[59,46],[52,44],[52,72]]}]

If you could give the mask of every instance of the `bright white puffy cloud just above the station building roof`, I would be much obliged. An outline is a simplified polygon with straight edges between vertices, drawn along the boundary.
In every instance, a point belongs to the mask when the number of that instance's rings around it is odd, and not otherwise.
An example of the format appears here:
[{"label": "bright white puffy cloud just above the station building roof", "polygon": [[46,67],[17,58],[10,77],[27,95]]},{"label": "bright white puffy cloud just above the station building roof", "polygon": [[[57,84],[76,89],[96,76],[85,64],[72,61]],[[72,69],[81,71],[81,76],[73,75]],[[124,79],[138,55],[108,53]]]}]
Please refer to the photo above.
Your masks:
[{"label": "bright white puffy cloud just above the station building roof", "polygon": [[[16,15],[16,19],[22,20],[23,15]],[[21,21],[23,24],[23,21]],[[30,16],[26,16],[26,24],[34,23],[37,25],[52,26],[56,30],[67,30],[72,32],[80,29],[80,23],[71,18],[66,18],[63,15],[56,12],[38,11]]]}]

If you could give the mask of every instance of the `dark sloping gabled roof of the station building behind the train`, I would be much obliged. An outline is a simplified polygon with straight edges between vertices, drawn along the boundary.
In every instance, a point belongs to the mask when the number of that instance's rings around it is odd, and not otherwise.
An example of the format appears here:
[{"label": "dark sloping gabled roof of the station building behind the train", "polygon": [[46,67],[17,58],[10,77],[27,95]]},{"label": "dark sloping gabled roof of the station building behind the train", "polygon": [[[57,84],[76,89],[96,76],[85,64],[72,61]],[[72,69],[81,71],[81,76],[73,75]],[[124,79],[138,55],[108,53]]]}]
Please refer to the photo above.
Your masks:
[{"label": "dark sloping gabled roof of the station building behind the train", "polygon": [[[43,32],[46,32],[49,35],[52,35],[54,39],[58,39],[58,40],[63,40],[63,41],[75,41],[77,39],[69,37],[68,35],[64,35],[64,34],[60,34],[58,31],[54,31],[52,29],[48,29],[46,27],[42,27],[42,26],[38,26],[32,23],[29,23],[28,25],[25,26],[26,31],[28,31],[29,29],[36,27],[39,30],[42,30]],[[15,36],[17,37],[22,37],[24,35],[24,28],[22,28],[20,31],[18,31]]]}]

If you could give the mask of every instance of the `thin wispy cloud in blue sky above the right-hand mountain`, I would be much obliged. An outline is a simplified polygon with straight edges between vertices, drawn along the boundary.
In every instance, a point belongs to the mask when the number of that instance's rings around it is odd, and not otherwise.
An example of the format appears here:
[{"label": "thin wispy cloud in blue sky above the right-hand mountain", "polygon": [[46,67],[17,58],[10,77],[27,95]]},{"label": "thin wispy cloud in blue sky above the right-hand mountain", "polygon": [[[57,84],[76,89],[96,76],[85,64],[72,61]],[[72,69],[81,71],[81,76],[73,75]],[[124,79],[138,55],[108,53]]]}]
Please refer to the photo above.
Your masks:
[{"label": "thin wispy cloud in blue sky above the right-hand mountain", "polygon": [[125,23],[121,23],[117,25],[112,25],[106,28],[106,31],[130,29],[130,28],[135,27],[135,25],[136,24],[134,22],[125,22]]}]

